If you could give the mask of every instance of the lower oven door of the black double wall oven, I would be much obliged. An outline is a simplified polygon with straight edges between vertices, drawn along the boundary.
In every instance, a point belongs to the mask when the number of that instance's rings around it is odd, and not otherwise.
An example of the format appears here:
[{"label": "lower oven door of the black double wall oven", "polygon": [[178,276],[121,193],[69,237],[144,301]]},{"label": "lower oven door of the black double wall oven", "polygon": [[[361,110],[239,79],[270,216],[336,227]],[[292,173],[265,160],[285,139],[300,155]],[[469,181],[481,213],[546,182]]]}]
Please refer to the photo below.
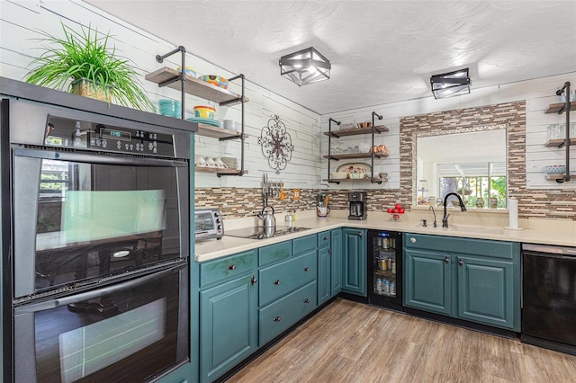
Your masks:
[{"label": "lower oven door of the black double wall oven", "polygon": [[189,360],[188,268],[14,307],[17,382],[137,382]]}]

